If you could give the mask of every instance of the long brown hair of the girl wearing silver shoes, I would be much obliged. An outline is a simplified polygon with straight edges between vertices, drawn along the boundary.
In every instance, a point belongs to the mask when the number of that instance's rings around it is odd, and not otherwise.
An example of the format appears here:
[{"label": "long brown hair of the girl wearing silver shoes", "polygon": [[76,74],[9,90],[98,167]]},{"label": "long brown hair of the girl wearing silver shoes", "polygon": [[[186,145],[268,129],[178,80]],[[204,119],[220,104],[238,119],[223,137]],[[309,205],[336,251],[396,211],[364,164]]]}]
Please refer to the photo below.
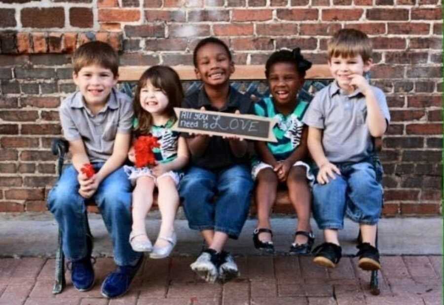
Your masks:
[{"label": "long brown hair of the girl wearing silver shoes", "polygon": [[147,134],[152,125],[152,116],[145,111],[140,105],[140,91],[146,86],[147,81],[156,88],[162,89],[168,97],[168,105],[166,111],[176,120],[174,107],[180,107],[184,99],[184,89],[182,88],[181,79],[176,71],[168,66],[152,66],[142,74],[137,83],[136,93],[134,95],[134,112],[138,120],[135,128],[136,136]]}]

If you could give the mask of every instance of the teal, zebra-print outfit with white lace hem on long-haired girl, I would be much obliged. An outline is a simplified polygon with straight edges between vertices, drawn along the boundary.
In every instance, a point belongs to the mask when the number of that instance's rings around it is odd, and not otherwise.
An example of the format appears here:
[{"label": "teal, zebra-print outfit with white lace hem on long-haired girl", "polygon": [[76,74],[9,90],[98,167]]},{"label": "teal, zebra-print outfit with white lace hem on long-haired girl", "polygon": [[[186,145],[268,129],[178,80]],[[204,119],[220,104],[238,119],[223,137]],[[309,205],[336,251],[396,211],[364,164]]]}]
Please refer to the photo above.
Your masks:
[{"label": "teal, zebra-print outfit with white lace hem on long-haired girl", "polygon": [[[169,119],[165,125],[152,125],[149,133],[157,138],[157,142],[159,143],[158,148],[153,148],[152,152],[154,153],[154,158],[158,163],[168,163],[177,158],[177,147],[180,133],[177,131],[171,130],[173,127],[174,120]],[[138,125],[137,119],[134,119],[133,127],[136,128]],[[137,178],[139,177],[151,177],[156,182],[156,177],[151,172],[149,167],[136,168],[134,166],[123,166],[123,169],[128,175],[128,179],[131,181],[133,185],[135,185]],[[170,176],[173,181],[176,183],[176,186],[179,184],[180,179],[183,176],[182,172],[169,171],[161,176]]]}]

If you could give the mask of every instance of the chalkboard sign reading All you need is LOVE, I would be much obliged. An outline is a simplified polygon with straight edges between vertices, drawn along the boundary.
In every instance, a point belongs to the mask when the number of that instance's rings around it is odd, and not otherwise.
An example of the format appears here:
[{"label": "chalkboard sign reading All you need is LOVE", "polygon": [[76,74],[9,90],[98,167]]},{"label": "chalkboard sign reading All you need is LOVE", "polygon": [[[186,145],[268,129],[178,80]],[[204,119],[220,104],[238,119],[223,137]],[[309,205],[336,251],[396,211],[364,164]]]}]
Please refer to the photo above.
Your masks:
[{"label": "chalkboard sign reading All you need is LOVE", "polygon": [[276,121],[272,118],[186,108],[174,108],[174,111],[178,118],[173,126],[176,131],[277,142],[272,131]]}]

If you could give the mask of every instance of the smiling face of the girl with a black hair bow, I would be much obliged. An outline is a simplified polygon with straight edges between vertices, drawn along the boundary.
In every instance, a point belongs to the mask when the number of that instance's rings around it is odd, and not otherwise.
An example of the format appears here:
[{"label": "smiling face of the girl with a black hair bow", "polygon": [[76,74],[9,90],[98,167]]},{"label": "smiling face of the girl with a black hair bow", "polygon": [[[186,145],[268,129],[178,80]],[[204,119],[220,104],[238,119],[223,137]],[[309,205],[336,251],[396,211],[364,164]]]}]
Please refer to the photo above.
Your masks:
[{"label": "smiling face of the girl with a black hair bow", "polygon": [[284,106],[296,104],[296,96],[304,83],[299,76],[296,65],[288,62],[278,62],[271,66],[268,74],[268,85],[275,103]]}]

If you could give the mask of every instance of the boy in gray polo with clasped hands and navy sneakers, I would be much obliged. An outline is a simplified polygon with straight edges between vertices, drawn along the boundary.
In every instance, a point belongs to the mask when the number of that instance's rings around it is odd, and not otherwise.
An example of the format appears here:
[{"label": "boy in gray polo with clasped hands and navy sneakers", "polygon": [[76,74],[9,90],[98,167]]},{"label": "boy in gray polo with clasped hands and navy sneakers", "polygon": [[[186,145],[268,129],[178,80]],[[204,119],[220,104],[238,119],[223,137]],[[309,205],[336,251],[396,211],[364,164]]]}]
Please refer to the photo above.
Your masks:
[{"label": "boy in gray polo with clasped hands and navy sneakers", "polygon": [[[133,106],[128,96],[113,88],[119,59],[109,44],[83,44],[74,52],[73,65],[79,90],[60,106],[73,164],[49,192],[48,208],[62,230],[62,248],[72,262],[73,285],[87,291],[94,285],[94,269],[92,240],[86,235],[85,199],[94,198],[111,235],[118,265],[102,285],[102,294],[113,298],[128,290],[143,261],[129,244],[131,185],[121,167],[130,145]],[[82,172],[89,163],[95,171],[92,177]]]}]

